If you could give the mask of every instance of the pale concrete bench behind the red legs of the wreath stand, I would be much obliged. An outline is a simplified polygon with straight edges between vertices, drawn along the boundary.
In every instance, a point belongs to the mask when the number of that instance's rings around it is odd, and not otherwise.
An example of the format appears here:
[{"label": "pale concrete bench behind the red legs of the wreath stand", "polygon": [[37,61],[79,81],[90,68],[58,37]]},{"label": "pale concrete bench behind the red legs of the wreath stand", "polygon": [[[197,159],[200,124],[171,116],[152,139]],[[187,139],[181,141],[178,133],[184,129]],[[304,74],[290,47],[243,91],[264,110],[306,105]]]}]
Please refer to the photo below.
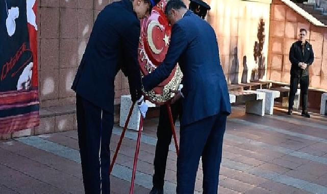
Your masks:
[{"label": "pale concrete bench behind the red legs of the wreath stand", "polygon": [[[147,104],[148,107],[156,107],[155,104],[150,103],[149,101],[145,101],[145,103]],[[132,106],[131,95],[122,95],[120,98],[120,119],[119,119],[120,127],[124,127],[131,106]],[[141,120],[141,113],[137,108],[137,104],[135,104],[127,128],[138,131],[140,126],[140,120]]]}]

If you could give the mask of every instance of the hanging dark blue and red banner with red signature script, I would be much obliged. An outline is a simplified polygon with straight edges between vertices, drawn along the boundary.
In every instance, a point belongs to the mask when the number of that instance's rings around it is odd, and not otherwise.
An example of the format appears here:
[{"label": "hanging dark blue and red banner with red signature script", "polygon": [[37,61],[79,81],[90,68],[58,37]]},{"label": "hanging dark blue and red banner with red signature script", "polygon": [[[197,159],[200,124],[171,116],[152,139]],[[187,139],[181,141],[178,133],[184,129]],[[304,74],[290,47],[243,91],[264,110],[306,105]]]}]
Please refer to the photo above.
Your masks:
[{"label": "hanging dark blue and red banner with red signature script", "polygon": [[0,1],[0,134],[39,125],[35,1]]}]

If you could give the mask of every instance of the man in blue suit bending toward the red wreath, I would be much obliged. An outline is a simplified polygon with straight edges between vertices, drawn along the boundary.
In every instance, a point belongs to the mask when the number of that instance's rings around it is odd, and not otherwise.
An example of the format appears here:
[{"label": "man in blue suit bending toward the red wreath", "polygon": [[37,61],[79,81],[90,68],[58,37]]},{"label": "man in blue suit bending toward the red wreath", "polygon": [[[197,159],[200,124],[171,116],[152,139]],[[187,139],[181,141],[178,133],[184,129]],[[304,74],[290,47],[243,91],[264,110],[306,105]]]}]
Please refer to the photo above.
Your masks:
[{"label": "man in blue suit bending toward the red wreath", "polygon": [[193,193],[199,159],[203,163],[203,193],[217,193],[222,140],[231,105],[219,60],[214,30],[187,10],[181,0],[170,0],[165,14],[172,26],[163,63],[142,79],[146,91],[169,75],[179,62],[183,71],[183,116],[177,159],[177,193]]}]

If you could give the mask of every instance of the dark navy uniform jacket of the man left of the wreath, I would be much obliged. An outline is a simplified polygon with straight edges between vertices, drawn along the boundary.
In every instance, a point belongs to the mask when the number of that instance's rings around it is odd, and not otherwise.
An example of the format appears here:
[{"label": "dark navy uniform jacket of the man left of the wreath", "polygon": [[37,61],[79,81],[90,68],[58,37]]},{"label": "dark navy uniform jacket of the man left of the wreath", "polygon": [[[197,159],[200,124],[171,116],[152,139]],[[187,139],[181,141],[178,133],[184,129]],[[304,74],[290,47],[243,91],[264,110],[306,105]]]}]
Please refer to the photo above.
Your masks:
[{"label": "dark navy uniform jacket of the man left of the wreath", "polygon": [[129,0],[106,6],[96,18],[71,88],[113,113],[115,76],[122,69],[128,76],[132,100],[140,98],[139,36],[140,21]]}]

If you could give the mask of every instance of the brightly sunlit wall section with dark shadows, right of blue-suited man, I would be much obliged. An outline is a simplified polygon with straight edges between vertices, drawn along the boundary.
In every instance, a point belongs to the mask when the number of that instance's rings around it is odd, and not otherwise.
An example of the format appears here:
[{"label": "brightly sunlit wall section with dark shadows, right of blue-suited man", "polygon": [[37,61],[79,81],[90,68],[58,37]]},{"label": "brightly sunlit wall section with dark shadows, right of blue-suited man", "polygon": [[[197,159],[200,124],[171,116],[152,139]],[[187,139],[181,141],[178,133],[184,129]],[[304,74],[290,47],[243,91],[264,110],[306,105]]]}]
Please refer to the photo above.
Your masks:
[{"label": "brightly sunlit wall section with dark shadows, right of blue-suited man", "polygon": [[228,83],[266,79],[269,1],[208,0]]}]

